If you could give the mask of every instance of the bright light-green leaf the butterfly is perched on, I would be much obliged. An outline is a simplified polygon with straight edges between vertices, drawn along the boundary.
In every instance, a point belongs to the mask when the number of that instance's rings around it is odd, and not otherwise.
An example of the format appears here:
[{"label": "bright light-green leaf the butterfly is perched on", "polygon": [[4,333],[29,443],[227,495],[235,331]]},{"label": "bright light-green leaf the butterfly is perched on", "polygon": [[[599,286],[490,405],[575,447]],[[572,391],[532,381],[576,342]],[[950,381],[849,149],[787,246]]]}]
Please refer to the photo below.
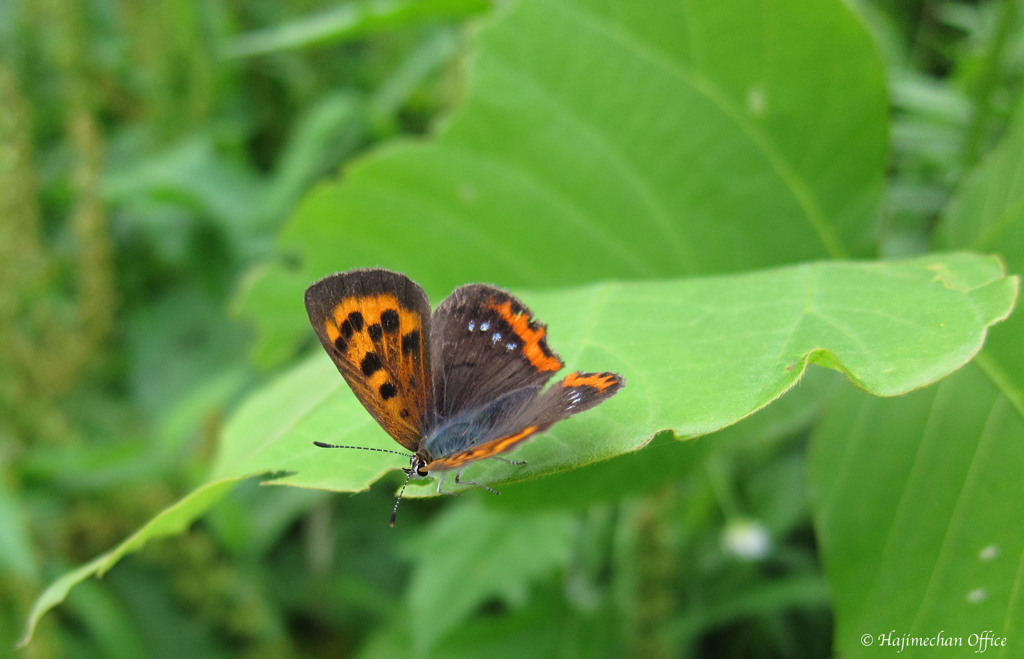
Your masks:
[{"label": "bright light-green leaf the butterfly is perched on", "polygon": [[[628,384],[528,444],[520,451],[528,465],[481,464],[468,475],[520,480],[635,450],[664,429],[705,435],[780,396],[808,362],[880,395],[905,393],[970,360],[1016,291],[996,260],[946,255],[527,295],[568,367],[615,370]],[[225,436],[215,478],[287,470],[295,474],[279,482],[354,491],[400,459],[312,447],[396,448],[326,355],[254,396],[237,419],[248,430]]]}]

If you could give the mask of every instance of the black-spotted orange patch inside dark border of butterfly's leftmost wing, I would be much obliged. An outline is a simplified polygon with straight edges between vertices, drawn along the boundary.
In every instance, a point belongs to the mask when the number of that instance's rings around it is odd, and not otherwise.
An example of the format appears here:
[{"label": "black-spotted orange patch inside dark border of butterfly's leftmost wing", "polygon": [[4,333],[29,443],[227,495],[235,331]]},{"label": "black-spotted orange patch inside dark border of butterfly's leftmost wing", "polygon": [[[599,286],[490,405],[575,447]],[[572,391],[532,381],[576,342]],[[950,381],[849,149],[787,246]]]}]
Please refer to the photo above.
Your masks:
[{"label": "black-spotted orange patch inside dark border of butterfly's leftmost wing", "polygon": [[324,333],[359,401],[391,437],[415,450],[430,389],[421,315],[390,293],[346,298],[324,320]]}]

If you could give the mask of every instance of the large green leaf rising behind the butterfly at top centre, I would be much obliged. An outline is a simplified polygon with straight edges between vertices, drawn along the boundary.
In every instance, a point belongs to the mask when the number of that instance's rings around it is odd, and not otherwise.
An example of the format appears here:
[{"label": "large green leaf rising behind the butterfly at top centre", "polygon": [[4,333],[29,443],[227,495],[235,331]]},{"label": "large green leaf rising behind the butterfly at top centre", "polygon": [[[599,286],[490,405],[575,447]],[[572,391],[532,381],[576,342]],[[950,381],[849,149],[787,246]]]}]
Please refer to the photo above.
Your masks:
[{"label": "large green leaf rising behind the butterfly at top centre", "polygon": [[841,2],[529,1],[474,47],[436,138],[353,164],[299,209],[281,247],[301,274],[267,268],[244,301],[261,353],[307,336],[300,296],[272,301],[284,288],[355,266],[441,296],[871,252],[885,83]]}]

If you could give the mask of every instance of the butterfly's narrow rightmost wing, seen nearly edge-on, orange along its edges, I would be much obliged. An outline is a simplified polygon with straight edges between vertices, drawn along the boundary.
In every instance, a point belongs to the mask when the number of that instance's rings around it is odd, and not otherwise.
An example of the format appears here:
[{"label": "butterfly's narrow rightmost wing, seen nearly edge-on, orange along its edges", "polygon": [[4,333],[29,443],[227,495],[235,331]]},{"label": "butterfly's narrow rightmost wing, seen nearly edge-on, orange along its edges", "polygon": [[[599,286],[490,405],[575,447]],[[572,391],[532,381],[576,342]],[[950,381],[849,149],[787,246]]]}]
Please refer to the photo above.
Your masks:
[{"label": "butterfly's narrow rightmost wing, seen nearly edge-on, orange along its edges", "polygon": [[547,391],[535,394],[481,433],[479,443],[429,463],[427,471],[461,469],[467,464],[511,450],[563,419],[590,409],[625,385],[613,372],[572,372]]}]

